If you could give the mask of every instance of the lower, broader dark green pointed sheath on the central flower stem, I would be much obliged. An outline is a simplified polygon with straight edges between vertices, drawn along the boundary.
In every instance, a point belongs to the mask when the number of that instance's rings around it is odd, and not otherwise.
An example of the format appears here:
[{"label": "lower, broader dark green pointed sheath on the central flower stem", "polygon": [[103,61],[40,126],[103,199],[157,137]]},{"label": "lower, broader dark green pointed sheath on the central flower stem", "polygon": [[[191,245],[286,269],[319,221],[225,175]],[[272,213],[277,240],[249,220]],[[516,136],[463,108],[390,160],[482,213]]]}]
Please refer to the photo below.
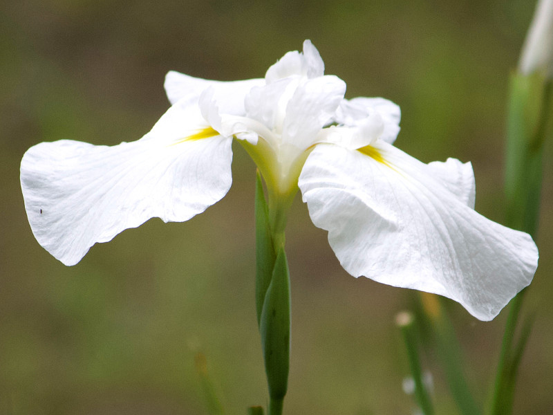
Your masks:
[{"label": "lower, broader dark green pointed sheath on the central flower stem", "polygon": [[278,406],[288,389],[290,366],[290,274],[283,248],[279,250],[265,295],[259,331],[271,404]]}]

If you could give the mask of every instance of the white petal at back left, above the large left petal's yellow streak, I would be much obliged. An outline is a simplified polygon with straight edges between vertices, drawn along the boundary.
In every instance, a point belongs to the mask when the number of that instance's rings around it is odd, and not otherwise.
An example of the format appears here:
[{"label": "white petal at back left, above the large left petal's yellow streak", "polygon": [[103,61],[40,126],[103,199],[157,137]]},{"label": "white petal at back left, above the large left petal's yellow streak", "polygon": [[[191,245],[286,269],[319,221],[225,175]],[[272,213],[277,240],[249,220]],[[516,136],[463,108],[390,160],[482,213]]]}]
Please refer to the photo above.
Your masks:
[{"label": "white petal at back left, above the large left petal's yellow streak", "polygon": [[213,87],[214,99],[221,113],[244,116],[244,97],[254,86],[265,84],[262,78],[253,80],[222,82],[203,80],[184,73],[169,71],[165,76],[165,92],[171,104],[183,100],[186,105],[197,104],[205,89]]}]

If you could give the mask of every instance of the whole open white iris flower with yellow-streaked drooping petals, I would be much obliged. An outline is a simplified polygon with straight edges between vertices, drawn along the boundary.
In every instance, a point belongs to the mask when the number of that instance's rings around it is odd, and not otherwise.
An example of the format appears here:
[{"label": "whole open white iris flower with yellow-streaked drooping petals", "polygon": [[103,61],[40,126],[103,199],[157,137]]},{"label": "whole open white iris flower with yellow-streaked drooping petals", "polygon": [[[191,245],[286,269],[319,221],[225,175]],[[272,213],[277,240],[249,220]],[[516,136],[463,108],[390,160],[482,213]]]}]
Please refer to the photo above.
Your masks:
[{"label": "whole open white iris flower with yellow-streaked drooping petals", "polygon": [[[232,138],[258,165],[283,231],[297,189],[355,277],[444,295],[491,320],[527,286],[538,250],[523,232],[474,211],[470,163],[421,163],[393,147],[400,109],[345,100],[315,46],[289,52],[264,79],[165,82],[172,107],[140,140],[113,147],[42,142],[21,161],[37,241],[66,265],[152,217],[187,221],[225,196]],[[276,213],[275,213],[276,212]],[[279,219],[279,215],[282,216]]]}]

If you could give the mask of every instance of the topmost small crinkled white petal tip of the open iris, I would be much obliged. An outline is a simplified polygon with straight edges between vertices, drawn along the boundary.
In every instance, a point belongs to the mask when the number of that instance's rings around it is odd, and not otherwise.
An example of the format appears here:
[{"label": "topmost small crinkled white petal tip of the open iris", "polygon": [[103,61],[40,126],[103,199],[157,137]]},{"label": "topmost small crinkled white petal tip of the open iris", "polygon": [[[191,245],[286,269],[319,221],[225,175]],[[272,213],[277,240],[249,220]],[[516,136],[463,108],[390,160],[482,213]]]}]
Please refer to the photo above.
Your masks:
[{"label": "topmost small crinkled white petal tip of the open iris", "polygon": [[319,51],[310,40],[303,42],[303,53],[297,50],[286,53],[279,61],[272,65],[267,73],[265,80],[270,84],[285,77],[303,76],[315,78],[323,76],[324,62],[319,55]]}]

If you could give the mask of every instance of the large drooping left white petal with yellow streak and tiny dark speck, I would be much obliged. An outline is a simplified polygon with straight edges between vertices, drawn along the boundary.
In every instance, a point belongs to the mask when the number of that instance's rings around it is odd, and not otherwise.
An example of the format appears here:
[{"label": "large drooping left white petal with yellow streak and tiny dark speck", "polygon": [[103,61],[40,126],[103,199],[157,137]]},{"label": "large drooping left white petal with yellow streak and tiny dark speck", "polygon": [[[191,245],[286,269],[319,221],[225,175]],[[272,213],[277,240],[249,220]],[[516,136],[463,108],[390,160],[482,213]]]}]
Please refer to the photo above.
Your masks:
[{"label": "large drooping left white petal with yellow streak and tiny dark speck", "polygon": [[122,230],[152,217],[187,221],[223,198],[232,183],[232,140],[198,113],[182,127],[191,117],[171,107],[142,139],[113,147],[60,140],[28,149],[21,189],[41,246],[74,265]]}]

